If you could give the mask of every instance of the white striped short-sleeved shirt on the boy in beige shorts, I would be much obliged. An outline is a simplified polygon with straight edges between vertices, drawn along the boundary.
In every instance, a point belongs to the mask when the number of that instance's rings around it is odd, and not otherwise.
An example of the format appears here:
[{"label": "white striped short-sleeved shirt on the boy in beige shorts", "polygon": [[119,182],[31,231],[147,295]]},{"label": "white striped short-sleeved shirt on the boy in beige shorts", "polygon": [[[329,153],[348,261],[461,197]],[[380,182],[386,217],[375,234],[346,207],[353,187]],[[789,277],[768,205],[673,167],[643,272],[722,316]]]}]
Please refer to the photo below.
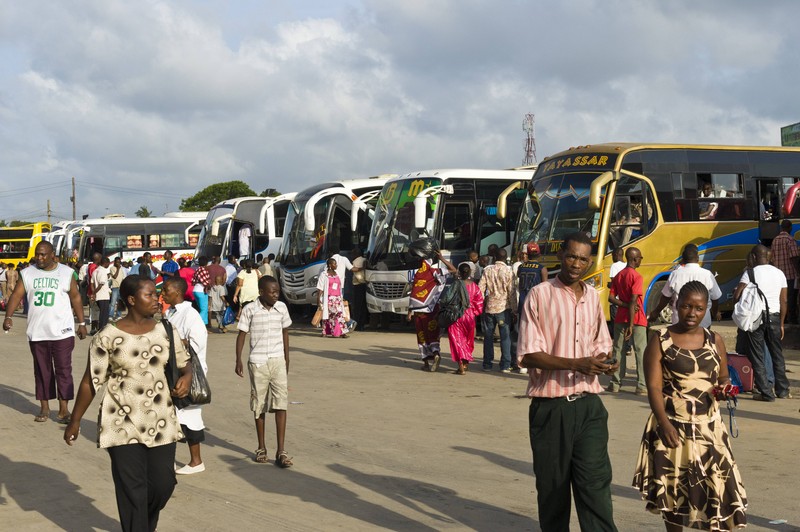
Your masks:
[{"label": "white striped short-sleeved shirt on the boy in beige shorts", "polygon": [[283,357],[283,329],[292,324],[286,304],[276,301],[266,308],[260,299],[242,309],[238,329],[250,333],[250,358],[253,364],[266,364],[268,358]]}]

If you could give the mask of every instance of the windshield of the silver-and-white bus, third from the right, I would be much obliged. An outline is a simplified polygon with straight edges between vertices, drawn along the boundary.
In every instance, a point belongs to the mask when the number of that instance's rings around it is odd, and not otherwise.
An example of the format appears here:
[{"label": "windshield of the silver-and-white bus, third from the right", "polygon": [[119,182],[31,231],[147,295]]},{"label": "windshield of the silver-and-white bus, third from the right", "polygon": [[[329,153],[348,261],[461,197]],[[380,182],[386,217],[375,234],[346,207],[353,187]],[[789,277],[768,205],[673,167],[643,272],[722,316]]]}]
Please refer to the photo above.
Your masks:
[{"label": "windshield of the silver-and-white bus, third from the right", "polygon": [[304,196],[300,201],[295,198],[295,201],[290,204],[289,212],[286,215],[288,234],[285,235],[283,246],[281,246],[279,261],[282,266],[288,268],[305,266],[306,264],[320,261],[325,257],[327,214],[333,198],[331,196],[322,198],[314,205],[316,225],[313,232],[308,232],[305,228],[303,215],[311,195]]}]

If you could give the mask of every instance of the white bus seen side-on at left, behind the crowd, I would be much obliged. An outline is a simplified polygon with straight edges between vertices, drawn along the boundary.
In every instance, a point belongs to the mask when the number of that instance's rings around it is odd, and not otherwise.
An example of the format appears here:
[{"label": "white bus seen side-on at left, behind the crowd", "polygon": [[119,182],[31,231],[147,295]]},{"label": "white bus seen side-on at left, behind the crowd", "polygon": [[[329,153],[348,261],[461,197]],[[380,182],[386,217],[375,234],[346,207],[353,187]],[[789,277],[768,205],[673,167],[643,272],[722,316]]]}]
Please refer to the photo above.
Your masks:
[{"label": "white bus seen side-on at left, behind the crowd", "polygon": [[94,253],[110,260],[120,257],[135,261],[145,252],[153,262],[163,260],[170,250],[175,259],[191,259],[197,247],[205,212],[182,213],[180,217],[160,218],[94,218],[77,220],[65,229],[61,245],[61,262],[90,262]]}]

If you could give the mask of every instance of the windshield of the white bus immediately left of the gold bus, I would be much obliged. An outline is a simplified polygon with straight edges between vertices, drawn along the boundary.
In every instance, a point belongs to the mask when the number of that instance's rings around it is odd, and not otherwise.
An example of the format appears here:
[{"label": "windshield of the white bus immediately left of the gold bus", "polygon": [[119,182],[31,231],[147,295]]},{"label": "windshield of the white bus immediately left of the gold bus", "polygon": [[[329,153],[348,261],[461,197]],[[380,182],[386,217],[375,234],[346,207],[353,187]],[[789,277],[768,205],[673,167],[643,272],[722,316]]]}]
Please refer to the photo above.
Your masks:
[{"label": "windshield of the white bus immediately left of the gold bus", "polygon": [[[414,198],[425,188],[441,184],[441,179],[407,179],[384,186],[378,197],[369,237],[370,266],[389,270],[411,267],[408,245],[424,233],[414,227]],[[426,210],[429,221],[437,199],[438,196],[433,196],[428,200]]]}]

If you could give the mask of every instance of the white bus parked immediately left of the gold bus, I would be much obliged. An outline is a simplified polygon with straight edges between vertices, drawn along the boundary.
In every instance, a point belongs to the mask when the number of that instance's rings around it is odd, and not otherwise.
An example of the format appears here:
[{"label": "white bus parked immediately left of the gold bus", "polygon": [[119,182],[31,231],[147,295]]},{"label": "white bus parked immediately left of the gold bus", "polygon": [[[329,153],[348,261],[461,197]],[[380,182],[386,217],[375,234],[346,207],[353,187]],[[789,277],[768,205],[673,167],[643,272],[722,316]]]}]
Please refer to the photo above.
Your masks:
[{"label": "white bus parked immediately left of the gold bus", "polygon": [[453,264],[466,260],[470,250],[486,254],[492,244],[510,250],[532,175],[531,169],[426,170],[387,182],[367,248],[369,312],[408,312],[411,280],[419,268],[408,247],[420,237],[435,238]]}]

